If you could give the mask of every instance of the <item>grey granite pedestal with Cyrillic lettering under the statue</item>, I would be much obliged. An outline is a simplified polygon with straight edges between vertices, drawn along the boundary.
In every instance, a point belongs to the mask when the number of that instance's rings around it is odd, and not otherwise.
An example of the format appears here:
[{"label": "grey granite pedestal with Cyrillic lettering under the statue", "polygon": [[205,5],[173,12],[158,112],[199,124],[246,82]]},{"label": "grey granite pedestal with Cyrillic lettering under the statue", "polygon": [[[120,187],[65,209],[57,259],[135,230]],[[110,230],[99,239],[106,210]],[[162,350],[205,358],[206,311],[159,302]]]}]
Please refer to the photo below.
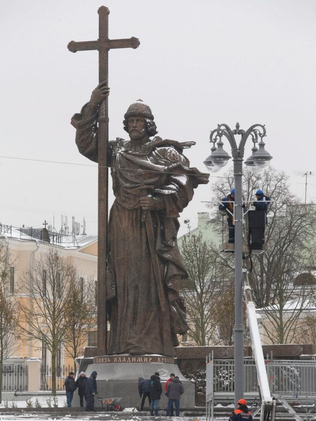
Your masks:
[{"label": "grey granite pedestal with Cyrillic lettering under the statue", "polygon": [[[85,359],[86,360],[86,359]],[[163,393],[161,396],[160,409],[166,409],[168,398],[165,395],[165,384],[170,373],[179,377],[184,387],[184,394],[181,396],[180,408],[194,408],[195,394],[194,383],[186,379],[173,357],[164,357],[160,355],[111,355],[103,357],[94,357],[94,362],[87,365],[86,376],[89,377],[92,371],[98,373],[97,389],[98,397],[101,398],[123,398],[120,402],[123,408],[134,408],[140,404],[138,393],[138,378],[150,378],[156,371],[159,372]],[[83,369],[80,359],[80,370]],[[87,361],[85,361],[87,363]],[[73,407],[80,406],[77,392],[74,393]],[[95,407],[100,408],[101,402],[95,399]],[[148,400],[145,401],[144,408],[149,408]]]}]

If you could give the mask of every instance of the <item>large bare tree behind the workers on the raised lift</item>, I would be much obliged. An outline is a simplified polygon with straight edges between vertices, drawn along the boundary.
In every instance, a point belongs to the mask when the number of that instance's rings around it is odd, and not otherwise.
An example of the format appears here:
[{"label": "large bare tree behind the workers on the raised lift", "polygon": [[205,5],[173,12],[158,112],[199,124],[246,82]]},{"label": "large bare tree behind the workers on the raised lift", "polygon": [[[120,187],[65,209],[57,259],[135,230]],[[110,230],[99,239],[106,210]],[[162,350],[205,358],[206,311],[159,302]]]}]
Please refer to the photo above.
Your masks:
[{"label": "large bare tree behind the workers on the raised lift", "polygon": [[[233,174],[230,171],[214,186],[217,198],[225,196],[232,186]],[[286,343],[298,329],[300,314],[305,310],[306,297],[310,293],[310,287],[297,288],[293,280],[315,262],[312,252],[316,229],[314,206],[300,203],[290,192],[288,177],[269,168],[259,174],[245,170],[243,194],[246,210],[257,188],[262,188],[273,202],[265,230],[268,251],[259,256],[252,255],[248,260],[249,281],[257,308],[263,309],[269,321],[265,325],[266,335],[272,343]],[[216,217],[214,224],[218,229]],[[222,263],[232,269],[233,257],[222,257]],[[293,311],[287,312],[291,300]]]}]

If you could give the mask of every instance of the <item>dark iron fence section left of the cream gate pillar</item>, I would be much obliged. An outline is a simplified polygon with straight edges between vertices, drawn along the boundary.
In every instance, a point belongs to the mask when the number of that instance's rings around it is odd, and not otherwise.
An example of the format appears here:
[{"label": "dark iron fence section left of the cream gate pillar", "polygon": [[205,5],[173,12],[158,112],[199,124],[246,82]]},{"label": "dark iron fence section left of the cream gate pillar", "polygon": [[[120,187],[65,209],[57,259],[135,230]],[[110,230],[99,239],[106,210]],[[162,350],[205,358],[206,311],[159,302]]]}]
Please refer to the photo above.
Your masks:
[{"label": "dark iron fence section left of the cream gate pillar", "polygon": [[4,364],[2,390],[5,392],[28,390],[28,367],[22,364]]}]

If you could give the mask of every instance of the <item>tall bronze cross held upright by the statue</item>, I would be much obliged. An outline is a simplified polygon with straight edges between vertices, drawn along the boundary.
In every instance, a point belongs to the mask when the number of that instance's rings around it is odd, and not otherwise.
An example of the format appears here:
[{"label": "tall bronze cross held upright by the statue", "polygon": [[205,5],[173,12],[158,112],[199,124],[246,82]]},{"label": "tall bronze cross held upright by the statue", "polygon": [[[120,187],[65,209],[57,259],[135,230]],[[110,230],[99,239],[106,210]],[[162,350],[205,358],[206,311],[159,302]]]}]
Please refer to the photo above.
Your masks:
[{"label": "tall bronze cross held upright by the statue", "polygon": [[[101,6],[99,14],[99,39],[97,41],[70,41],[68,50],[99,51],[99,83],[108,86],[108,51],[112,48],[137,48],[139,40],[134,36],[129,39],[108,39],[107,7]],[[108,101],[99,106],[98,116],[98,312],[97,312],[97,355],[107,354],[107,312],[106,312],[106,255],[108,237]]]}]

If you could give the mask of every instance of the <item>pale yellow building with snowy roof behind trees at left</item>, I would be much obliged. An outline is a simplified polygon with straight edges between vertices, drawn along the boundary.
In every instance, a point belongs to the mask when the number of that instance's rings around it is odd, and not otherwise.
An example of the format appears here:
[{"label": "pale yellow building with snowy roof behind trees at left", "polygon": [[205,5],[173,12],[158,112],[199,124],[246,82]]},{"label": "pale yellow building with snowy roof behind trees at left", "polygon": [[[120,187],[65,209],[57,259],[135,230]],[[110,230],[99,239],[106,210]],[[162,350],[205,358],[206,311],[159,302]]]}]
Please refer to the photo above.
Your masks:
[{"label": "pale yellow building with snowy roof behind trees at left", "polygon": [[[10,259],[7,262],[7,292],[32,306],[31,294],[27,278],[32,273],[35,260],[45,256],[50,250],[58,250],[61,257],[71,259],[77,268],[82,288],[89,283],[97,282],[97,236],[61,235],[44,229],[15,228],[0,224],[0,240],[7,249]],[[89,284],[89,287],[90,284]],[[96,288],[95,288],[96,291]],[[45,328],[45,326],[43,327]],[[90,329],[90,327],[89,327]],[[95,346],[96,326],[91,326],[87,337],[87,345]],[[61,348],[57,352],[57,365],[72,365],[70,358],[65,356]],[[25,361],[27,358],[42,359],[43,364],[50,365],[50,352],[44,343],[32,339],[23,341],[17,338],[14,349],[10,351],[7,362]]]}]

